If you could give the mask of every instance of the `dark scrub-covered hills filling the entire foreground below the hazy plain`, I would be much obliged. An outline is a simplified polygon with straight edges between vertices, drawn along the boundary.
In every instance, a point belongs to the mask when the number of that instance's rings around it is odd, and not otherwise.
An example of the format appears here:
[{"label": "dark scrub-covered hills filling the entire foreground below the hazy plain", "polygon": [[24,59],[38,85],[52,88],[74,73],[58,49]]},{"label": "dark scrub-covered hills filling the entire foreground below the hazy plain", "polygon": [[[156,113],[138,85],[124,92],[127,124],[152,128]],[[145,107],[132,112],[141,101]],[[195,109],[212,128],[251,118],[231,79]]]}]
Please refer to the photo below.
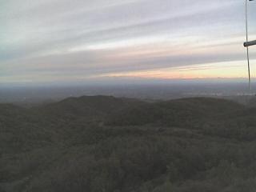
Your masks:
[{"label": "dark scrub-covered hills filling the entire foreground below the hazy plain", "polygon": [[215,98],[0,104],[0,191],[254,192],[256,108]]}]

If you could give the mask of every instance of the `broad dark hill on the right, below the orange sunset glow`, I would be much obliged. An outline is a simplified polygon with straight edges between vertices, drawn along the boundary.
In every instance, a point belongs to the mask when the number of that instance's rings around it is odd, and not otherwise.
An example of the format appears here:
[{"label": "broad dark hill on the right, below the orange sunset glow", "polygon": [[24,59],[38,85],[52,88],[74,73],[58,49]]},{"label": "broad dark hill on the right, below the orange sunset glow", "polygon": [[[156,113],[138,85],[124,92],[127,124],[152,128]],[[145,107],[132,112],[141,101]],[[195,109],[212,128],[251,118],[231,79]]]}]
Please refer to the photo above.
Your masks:
[{"label": "broad dark hill on the right, below the orange sunset glow", "polygon": [[109,125],[145,125],[157,123],[169,126],[198,126],[198,122],[228,118],[244,109],[236,102],[217,98],[185,98],[169,102],[145,103],[124,109],[110,118]]}]

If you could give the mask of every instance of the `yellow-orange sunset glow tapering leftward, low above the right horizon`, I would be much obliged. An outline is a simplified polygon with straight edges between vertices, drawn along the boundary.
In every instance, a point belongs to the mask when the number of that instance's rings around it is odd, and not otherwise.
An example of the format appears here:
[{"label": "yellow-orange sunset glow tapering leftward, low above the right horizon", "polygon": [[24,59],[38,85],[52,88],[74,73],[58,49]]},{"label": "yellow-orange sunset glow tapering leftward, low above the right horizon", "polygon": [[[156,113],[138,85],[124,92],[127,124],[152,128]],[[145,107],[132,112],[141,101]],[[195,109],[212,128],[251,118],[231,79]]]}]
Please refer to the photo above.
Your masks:
[{"label": "yellow-orange sunset glow tapering leftward, low above the right horizon", "polygon": [[[254,69],[252,68],[252,70]],[[102,76],[114,78],[158,79],[247,78],[247,68],[244,62],[217,62],[203,65],[172,67],[161,70],[114,73]]]}]

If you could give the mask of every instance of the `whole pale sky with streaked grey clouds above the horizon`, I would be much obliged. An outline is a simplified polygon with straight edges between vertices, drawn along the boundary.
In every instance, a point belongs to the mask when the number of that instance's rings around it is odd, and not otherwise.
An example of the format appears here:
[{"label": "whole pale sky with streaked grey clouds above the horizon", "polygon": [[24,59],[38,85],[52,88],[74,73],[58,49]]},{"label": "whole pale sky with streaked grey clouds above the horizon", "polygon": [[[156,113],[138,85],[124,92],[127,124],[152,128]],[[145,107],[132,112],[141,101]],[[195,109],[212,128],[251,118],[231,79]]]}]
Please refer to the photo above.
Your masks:
[{"label": "whole pale sky with streaked grey clouds above the horizon", "polygon": [[[244,4],[0,0],[0,85],[246,78]],[[254,40],[256,1],[249,4]],[[250,58],[256,74],[254,47]]]}]

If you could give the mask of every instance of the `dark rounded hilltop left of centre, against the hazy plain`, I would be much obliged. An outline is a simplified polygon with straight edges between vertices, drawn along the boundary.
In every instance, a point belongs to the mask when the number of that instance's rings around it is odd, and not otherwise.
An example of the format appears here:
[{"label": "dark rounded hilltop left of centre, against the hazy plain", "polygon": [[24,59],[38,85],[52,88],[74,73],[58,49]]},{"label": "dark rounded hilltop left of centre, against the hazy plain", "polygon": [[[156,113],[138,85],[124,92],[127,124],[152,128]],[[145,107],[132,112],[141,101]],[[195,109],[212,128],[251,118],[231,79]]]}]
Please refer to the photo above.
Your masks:
[{"label": "dark rounded hilltop left of centre, against the hazy plain", "polygon": [[80,98],[66,98],[61,102],[51,103],[34,110],[42,112],[43,115],[56,118],[65,118],[69,116],[73,116],[73,118],[102,118],[108,114],[118,112],[127,106],[135,106],[140,103],[141,102],[137,100],[128,98],[83,96]]}]

